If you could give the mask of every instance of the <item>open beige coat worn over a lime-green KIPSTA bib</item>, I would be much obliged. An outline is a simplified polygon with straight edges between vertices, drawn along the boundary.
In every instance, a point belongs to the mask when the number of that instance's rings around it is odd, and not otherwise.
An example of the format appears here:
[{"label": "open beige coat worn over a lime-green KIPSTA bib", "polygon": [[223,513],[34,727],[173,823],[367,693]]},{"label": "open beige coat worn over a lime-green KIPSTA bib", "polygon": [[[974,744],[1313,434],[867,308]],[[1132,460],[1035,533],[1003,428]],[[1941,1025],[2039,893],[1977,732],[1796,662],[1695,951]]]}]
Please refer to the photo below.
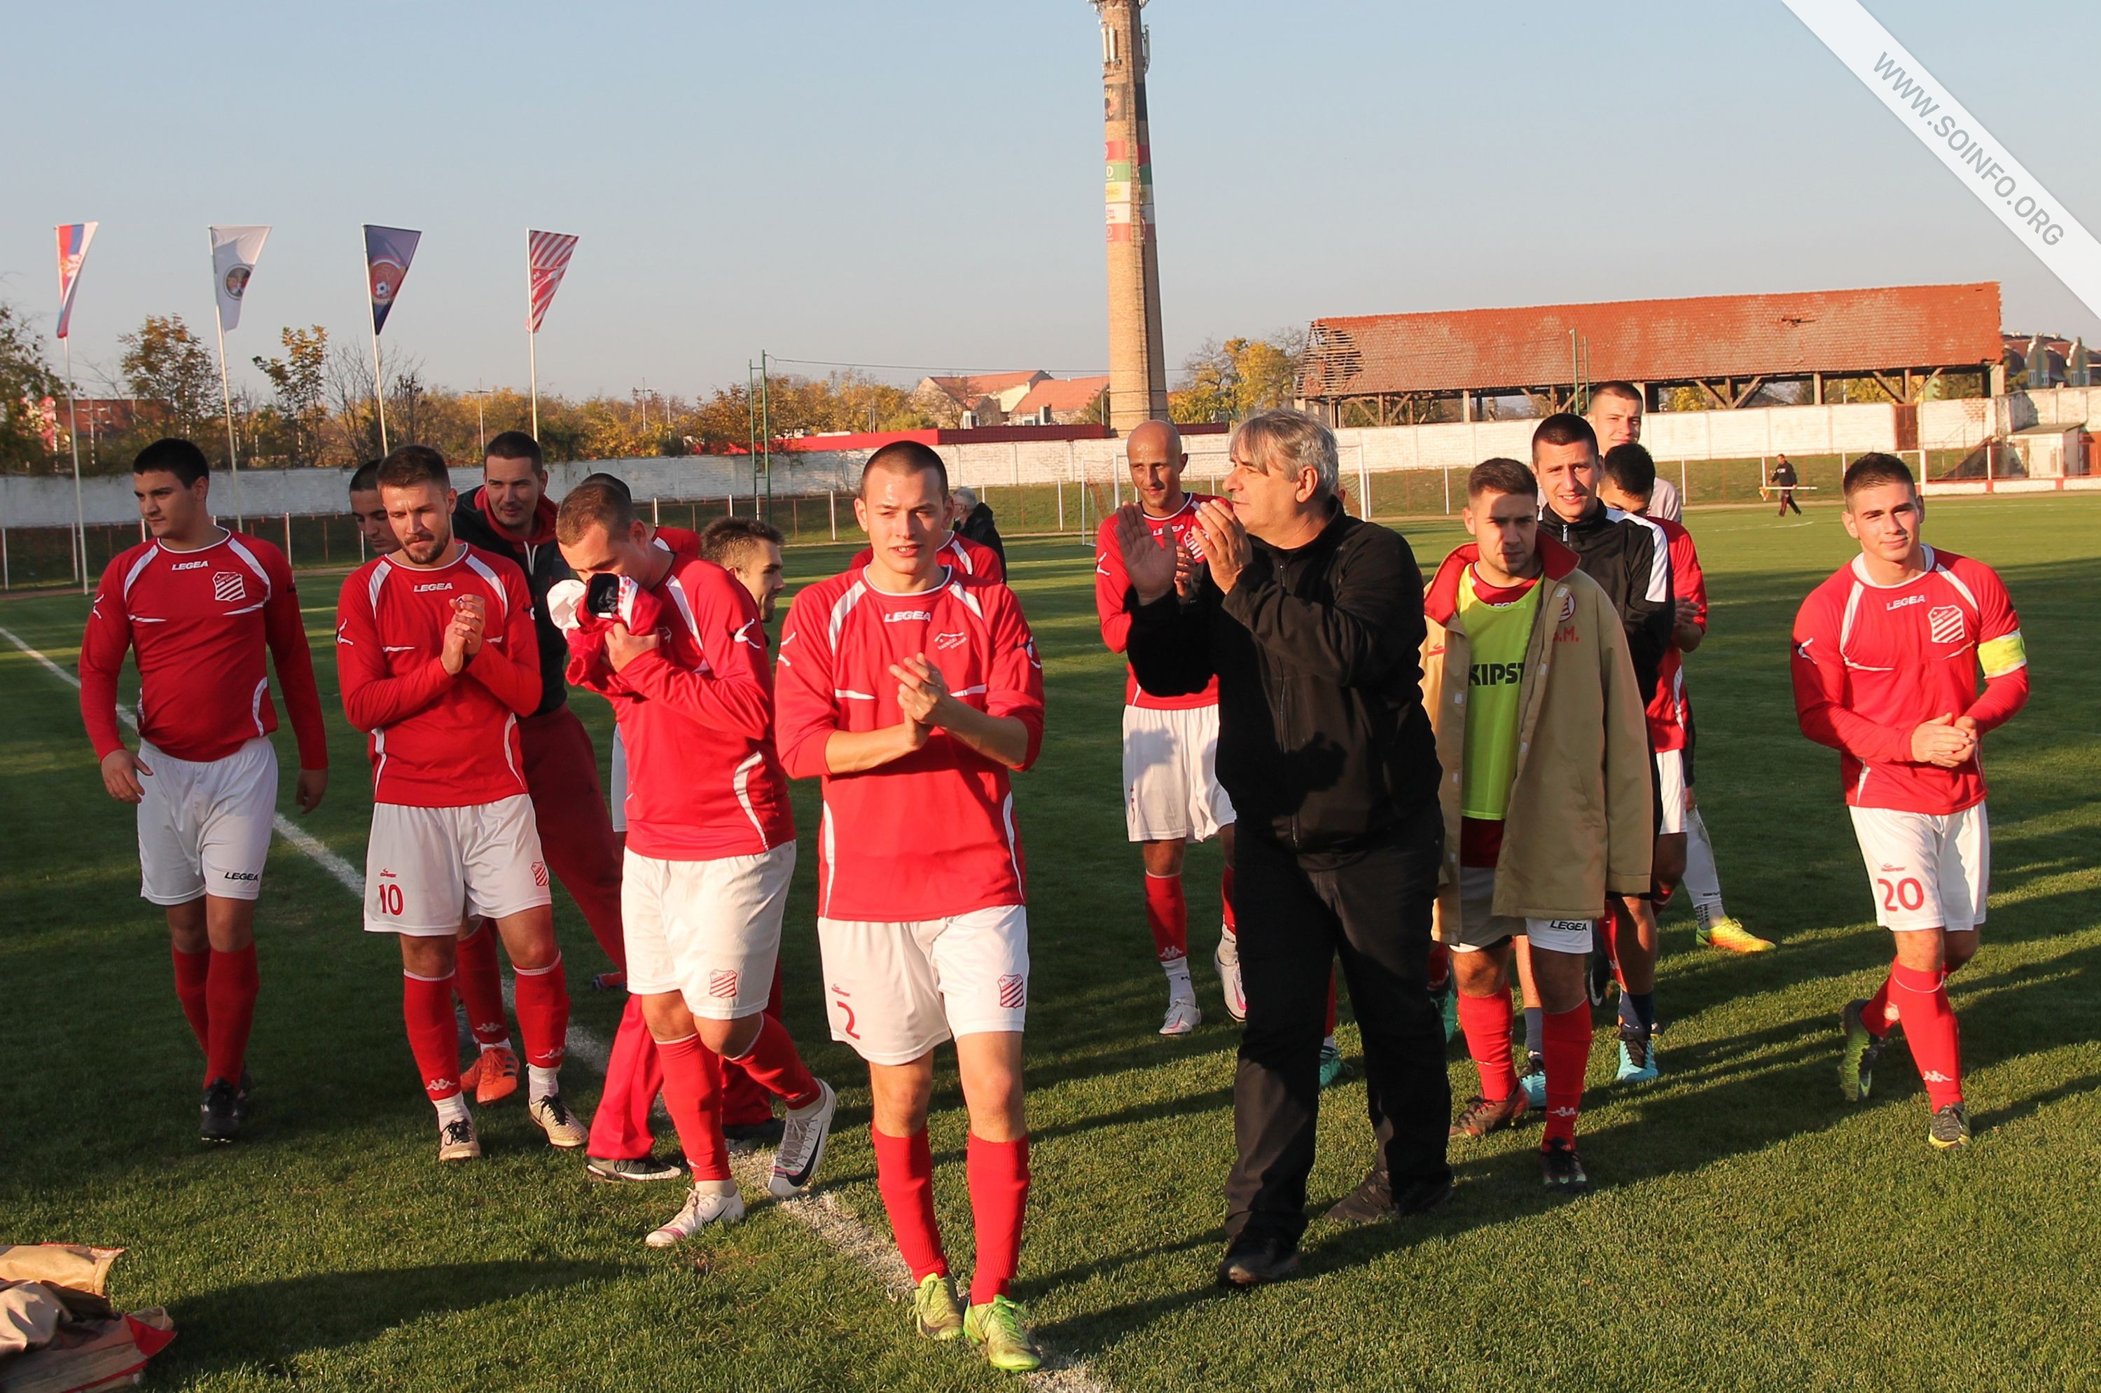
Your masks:
[{"label": "open beige coat worn over a lime-green KIPSTA bib", "polygon": [[[1475,561],[1460,546],[1437,569],[1422,609],[1422,706],[1443,767],[1445,868],[1441,924],[1458,922],[1460,763],[1466,746],[1466,635],[1452,628],[1458,580]],[[1649,889],[1656,853],[1653,761],[1626,630],[1576,553],[1540,536],[1540,605],[1519,681],[1517,775],[1496,857],[1496,914],[1599,918],[1605,895]],[[1445,672],[1454,677],[1445,681]]]}]

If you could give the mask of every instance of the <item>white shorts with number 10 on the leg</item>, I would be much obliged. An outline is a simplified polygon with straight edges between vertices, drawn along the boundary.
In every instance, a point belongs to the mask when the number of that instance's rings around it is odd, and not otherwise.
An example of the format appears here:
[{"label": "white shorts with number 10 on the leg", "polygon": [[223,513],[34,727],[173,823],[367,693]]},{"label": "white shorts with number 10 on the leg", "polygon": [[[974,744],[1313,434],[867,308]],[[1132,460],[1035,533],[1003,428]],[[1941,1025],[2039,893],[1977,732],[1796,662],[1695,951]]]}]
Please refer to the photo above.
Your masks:
[{"label": "white shorts with number 10 on the leg", "polygon": [[462,918],[502,918],[544,903],[553,895],[525,794],[471,807],[372,805],[366,933],[450,937]]}]

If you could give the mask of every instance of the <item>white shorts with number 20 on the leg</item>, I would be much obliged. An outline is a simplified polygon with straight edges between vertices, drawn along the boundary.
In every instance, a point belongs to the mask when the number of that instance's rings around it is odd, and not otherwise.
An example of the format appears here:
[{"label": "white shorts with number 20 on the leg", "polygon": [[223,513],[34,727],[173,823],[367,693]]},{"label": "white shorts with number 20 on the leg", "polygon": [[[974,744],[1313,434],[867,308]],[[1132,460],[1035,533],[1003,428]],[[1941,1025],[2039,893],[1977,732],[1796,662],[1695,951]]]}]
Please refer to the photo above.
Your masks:
[{"label": "white shorts with number 20 on the leg", "polygon": [[1992,822],[1983,803],[1960,813],[1855,807],[1853,836],[1874,887],[1874,922],[1962,933],[1983,922],[1992,889]]}]

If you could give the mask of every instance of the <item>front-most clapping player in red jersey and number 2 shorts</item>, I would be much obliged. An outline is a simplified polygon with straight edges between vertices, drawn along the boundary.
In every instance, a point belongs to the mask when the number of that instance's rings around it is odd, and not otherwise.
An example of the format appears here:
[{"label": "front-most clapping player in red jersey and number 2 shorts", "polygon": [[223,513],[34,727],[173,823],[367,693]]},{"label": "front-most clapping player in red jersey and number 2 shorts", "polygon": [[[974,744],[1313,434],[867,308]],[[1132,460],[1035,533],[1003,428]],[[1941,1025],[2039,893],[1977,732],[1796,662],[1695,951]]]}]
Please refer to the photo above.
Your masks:
[{"label": "front-most clapping player in red jersey and number 2 shorts", "polygon": [[[916,441],[868,456],[853,515],[870,561],[800,595],[779,658],[779,748],[824,779],[817,941],[832,1038],[868,1061],[876,1187],[918,1284],[924,1336],[998,1368],[1040,1364],[1008,1296],[1029,1139],[1021,1025],[1029,945],[1008,773],[1042,744],[1042,664],[1015,595],[943,553],[948,469]],[[977,1225],[960,1311],[933,1217],[933,1051],[956,1042]]]}]

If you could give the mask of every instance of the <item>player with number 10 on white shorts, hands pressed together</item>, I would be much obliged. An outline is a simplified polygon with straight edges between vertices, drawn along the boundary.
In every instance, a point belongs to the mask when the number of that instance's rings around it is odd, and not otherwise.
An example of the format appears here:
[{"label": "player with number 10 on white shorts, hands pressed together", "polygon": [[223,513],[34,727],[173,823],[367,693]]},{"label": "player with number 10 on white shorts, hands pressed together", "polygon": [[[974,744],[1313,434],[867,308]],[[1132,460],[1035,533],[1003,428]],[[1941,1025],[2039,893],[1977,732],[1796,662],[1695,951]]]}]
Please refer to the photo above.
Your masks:
[{"label": "player with number 10 on white shorts, hands pressed together", "polygon": [[519,742],[540,704],[532,595],[508,559],[452,536],[441,454],[403,445],[378,483],[401,548],[351,571],[336,603],[342,710],[372,733],[366,931],[401,941],[401,1015],[437,1107],[437,1158],[481,1156],[452,1023],[462,903],[496,920],[511,954],[527,1111],[550,1145],[582,1147],[561,1099],[569,990]]}]

